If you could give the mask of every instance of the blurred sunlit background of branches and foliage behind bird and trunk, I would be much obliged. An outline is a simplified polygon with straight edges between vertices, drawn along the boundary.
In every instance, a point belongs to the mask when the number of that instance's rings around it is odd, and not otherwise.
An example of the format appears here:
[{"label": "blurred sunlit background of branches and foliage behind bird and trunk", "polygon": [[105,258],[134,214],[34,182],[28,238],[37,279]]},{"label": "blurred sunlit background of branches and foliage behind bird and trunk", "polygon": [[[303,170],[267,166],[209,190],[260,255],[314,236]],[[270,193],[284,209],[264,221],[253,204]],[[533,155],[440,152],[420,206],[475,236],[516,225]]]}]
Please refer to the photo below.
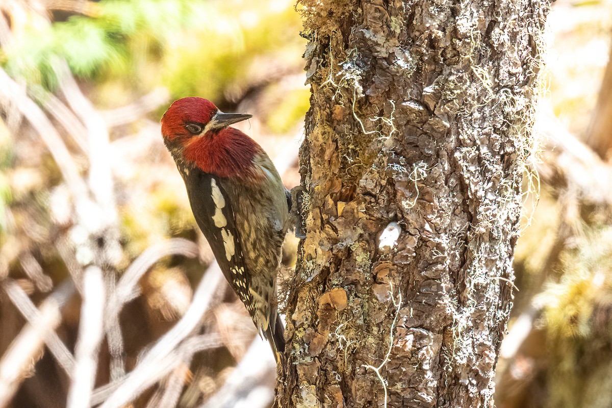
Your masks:
[{"label": "blurred sunlit background of branches and foliage behind bird and trunk", "polygon": [[[98,356],[92,401],[116,396],[125,373],[189,320],[213,257],[159,133],[173,100],[201,96],[253,114],[237,127],[275,160],[287,187],[299,183],[310,91],[296,7],[0,0],[0,407],[89,398],[79,393],[86,376],[70,374],[75,353]],[[543,154],[525,185],[498,407],[612,401],[611,36],[610,0],[553,4],[536,121]],[[283,277],[296,245],[286,242]],[[96,284],[114,296],[99,311],[99,350],[78,346],[83,333],[95,338],[80,314],[84,298],[95,316]],[[141,380],[134,407],[271,405],[269,349],[228,287],[214,293],[201,324],[172,343],[182,354],[150,360],[160,372],[149,374],[162,380]],[[585,393],[599,399],[587,404]]]}]

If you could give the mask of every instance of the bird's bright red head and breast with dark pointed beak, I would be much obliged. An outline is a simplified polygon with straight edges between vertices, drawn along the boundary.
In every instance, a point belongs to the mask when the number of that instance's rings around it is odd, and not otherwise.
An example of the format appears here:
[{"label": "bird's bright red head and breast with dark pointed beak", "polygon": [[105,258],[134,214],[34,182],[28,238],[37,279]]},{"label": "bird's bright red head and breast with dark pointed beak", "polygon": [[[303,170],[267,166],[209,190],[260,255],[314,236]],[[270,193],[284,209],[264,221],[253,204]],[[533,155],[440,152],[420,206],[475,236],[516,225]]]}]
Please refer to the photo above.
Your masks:
[{"label": "bird's bright red head and breast with dark pointed beak", "polygon": [[162,116],[163,141],[177,163],[220,177],[247,177],[253,173],[253,158],[261,147],[229,125],[250,117],[223,113],[203,98],[182,98]]}]

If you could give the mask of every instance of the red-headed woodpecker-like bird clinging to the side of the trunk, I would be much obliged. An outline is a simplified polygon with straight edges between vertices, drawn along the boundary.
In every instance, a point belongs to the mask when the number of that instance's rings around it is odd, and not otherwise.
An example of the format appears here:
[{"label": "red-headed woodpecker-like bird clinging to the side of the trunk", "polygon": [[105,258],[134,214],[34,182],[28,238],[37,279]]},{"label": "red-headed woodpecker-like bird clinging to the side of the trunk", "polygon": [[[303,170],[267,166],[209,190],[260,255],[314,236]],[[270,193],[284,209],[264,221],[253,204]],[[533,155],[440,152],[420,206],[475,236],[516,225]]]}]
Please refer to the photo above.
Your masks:
[{"label": "red-headed woodpecker-like bird clinging to the side of the trunk", "polygon": [[262,147],[230,127],[251,117],[187,97],[174,101],[160,122],[196,223],[278,363],[285,328],[277,311],[277,275],[291,193]]}]

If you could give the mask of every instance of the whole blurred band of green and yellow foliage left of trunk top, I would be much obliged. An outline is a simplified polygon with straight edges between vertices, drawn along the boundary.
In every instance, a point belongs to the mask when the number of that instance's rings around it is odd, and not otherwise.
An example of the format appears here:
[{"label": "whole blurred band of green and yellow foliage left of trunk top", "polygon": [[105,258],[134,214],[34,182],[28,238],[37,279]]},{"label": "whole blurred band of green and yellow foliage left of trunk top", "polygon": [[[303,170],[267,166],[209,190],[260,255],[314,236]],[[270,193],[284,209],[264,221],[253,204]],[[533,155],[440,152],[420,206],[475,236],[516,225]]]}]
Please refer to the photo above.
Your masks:
[{"label": "whole blurred band of green and yellow foliage left of trunk top", "polygon": [[[63,59],[75,75],[98,83],[162,83],[176,97],[217,99],[228,87],[265,83],[270,58],[264,61],[264,54],[272,59],[277,54],[283,64],[288,56],[293,56],[289,65],[300,63],[299,15],[293,7],[275,7],[273,2],[102,0],[92,17],[29,24],[0,51],[0,64],[10,75],[47,89],[57,85],[56,64]],[[286,48],[291,52],[282,55]]]}]

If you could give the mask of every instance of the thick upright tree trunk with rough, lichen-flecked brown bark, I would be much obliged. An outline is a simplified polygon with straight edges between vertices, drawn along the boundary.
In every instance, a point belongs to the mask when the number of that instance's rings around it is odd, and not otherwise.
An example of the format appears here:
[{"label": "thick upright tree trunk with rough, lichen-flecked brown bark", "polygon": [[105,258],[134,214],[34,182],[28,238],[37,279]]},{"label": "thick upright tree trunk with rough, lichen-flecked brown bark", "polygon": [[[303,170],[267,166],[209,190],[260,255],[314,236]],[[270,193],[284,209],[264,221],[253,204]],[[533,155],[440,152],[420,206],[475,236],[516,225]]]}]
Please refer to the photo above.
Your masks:
[{"label": "thick upright tree trunk with rough, lichen-flecked brown bark", "polygon": [[277,402],[492,406],[549,4],[301,4],[307,238]]}]

